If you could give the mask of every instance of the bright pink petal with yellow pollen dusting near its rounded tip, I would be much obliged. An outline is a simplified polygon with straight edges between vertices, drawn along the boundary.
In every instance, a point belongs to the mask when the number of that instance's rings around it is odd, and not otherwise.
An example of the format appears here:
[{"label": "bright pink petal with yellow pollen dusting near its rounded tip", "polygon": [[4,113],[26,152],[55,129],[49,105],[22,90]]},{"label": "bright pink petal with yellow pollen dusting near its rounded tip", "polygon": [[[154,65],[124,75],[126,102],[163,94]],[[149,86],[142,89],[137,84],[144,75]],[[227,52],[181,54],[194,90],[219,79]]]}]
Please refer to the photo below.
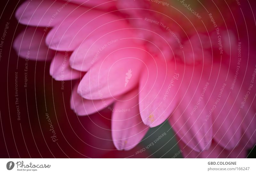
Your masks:
[{"label": "bright pink petal with yellow pollen dusting near its rounded tip", "polygon": [[180,69],[164,60],[150,60],[140,78],[140,115],[144,124],[155,127],[163,123],[176,107],[174,96],[179,87]]}]

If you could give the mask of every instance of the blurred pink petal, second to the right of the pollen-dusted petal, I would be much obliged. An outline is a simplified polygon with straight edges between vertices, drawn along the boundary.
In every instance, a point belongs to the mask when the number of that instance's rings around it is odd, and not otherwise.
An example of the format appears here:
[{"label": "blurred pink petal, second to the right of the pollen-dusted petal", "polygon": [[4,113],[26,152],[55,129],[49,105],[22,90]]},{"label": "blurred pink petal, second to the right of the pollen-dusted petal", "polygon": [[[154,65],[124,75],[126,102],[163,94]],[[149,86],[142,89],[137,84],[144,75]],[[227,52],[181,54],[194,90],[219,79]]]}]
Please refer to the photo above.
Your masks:
[{"label": "blurred pink petal, second to the right of the pollen-dusted petal", "polygon": [[[218,77],[219,76],[219,77]],[[225,67],[214,64],[212,67],[211,85],[213,89],[212,98],[209,102],[209,115],[212,117],[213,138],[220,146],[226,149],[236,147],[241,139],[242,117],[239,115],[240,102],[238,89],[230,89],[232,80]]]}]

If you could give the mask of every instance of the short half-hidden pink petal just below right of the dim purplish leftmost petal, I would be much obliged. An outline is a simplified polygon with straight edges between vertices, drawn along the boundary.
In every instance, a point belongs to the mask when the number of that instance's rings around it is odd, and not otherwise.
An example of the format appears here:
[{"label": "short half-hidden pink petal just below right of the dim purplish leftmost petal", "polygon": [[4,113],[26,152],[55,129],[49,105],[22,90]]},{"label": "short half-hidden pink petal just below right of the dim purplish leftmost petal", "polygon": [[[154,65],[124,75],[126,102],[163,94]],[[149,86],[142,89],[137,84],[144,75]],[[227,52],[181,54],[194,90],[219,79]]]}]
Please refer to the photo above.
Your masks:
[{"label": "short half-hidden pink petal just below right of the dim purplish leftmost petal", "polygon": [[52,59],[50,66],[50,75],[55,80],[74,80],[78,79],[83,74],[81,72],[72,69],[69,66],[69,56],[70,52],[57,52],[55,57]]}]

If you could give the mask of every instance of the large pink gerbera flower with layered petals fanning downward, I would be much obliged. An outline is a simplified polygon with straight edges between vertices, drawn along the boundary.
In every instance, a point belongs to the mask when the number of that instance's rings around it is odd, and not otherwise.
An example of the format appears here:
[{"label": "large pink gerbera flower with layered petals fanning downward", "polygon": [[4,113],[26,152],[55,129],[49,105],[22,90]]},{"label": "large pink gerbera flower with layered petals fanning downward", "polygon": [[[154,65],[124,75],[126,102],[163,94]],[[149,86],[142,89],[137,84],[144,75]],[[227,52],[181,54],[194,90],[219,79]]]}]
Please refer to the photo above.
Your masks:
[{"label": "large pink gerbera flower with layered petals fanning downward", "polygon": [[26,1],[16,18],[27,27],[14,48],[20,57],[29,51],[31,59],[51,61],[50,74],[63,87],[76,80],[70,107],[77,115],[112,111],[118,150],[132,149],[149,127],[168,120],[184,157],[245,157],[256,143],[255,87],[241,104],[253,71],[241,61],[240,72],[250,75],[234,83],[236,36],[220,28],[220,47],[215,28],[198,25],[192,32],[188,21],[198,22],[195,15],[186,20],[173,9],[166,14],[163,6]]}]

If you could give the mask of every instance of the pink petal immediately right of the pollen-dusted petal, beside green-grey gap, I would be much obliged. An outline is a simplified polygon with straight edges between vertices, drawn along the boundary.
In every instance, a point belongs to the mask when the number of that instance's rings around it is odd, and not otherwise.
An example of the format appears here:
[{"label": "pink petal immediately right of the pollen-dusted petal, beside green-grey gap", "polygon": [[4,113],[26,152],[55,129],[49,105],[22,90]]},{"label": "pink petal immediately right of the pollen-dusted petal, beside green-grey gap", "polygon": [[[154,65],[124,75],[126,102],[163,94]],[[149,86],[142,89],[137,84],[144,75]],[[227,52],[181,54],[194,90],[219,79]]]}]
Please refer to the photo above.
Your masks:
[{"label": "pink petal immediately right of the pollen-dusted petal, beside green-grey gap", "polygon": [[206,105],[209,99],[207,93],[211,84],[201,66],[186,66],[185,71],[179,91],[183,99],[169,122],[187,146],[200,152],[209,149],[212,142],[212,120],[206,119],[210,108]]}]

